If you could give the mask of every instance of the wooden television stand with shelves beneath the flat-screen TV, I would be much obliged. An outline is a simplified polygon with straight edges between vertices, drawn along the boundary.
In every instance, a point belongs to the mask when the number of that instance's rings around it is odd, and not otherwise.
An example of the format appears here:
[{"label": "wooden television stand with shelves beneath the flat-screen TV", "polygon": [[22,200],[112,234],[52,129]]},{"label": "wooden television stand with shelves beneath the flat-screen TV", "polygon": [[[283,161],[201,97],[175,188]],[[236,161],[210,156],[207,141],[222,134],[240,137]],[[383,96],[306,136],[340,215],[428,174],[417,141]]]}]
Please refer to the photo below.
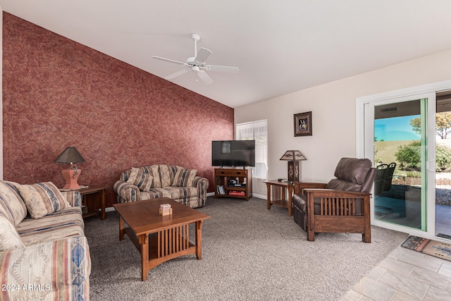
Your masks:
[{"label": "wooden television stand with shelves beneath the flat-screen TV", "polygon": [[238,197],[249,201],[249,197],[252,197],[252,169],[214,168],[214,186],[215,199]]}]

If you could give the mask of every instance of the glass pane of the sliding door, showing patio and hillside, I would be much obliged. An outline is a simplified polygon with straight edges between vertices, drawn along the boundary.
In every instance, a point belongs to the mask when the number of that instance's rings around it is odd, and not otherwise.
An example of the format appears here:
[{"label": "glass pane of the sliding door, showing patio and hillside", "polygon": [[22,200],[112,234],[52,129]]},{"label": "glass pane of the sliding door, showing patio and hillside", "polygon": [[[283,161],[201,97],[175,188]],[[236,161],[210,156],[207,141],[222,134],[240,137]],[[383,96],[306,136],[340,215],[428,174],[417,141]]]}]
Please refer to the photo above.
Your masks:
[{"label": "glass pane of the sliding door, showing patio and hillside", "polygon": [[427,99],[373,109],[374,219],[425,231]]}]

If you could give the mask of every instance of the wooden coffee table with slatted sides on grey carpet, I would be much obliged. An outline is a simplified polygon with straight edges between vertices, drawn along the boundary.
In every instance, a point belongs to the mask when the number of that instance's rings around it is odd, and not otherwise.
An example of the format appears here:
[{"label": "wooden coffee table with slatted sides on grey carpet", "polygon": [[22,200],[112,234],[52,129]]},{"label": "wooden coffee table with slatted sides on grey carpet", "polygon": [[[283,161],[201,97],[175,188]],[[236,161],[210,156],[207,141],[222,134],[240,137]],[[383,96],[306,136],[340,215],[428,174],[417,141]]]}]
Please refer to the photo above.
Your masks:
[{"label": "wooden coffee table with slatted sides on grey carpet", "polygon": [[[171,204],[172,214],[161,216],[160,204]],[[141,252],[142,281],[146,281],[151,269],[170,259],[187,254],[202,259],[202,225],[210,216],[167,197],[113,207],[119,214],[119,240],[127,233]],[[128,226],[124,227],[124,223]],[[195,223],[195,245],[190,242],[190,223]]]}]

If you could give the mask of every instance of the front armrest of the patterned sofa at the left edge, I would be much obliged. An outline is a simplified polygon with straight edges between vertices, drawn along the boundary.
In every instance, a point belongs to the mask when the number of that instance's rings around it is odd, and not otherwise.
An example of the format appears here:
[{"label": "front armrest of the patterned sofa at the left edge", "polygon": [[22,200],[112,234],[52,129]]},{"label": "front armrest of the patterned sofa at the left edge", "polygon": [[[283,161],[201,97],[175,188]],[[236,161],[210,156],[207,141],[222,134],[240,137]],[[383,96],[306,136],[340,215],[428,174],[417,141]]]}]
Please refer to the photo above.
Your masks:
[{"label": "front armrest of the patterned sofa at the left edge", "polygon": [[84,236],[39,243],[0,253],[5,300],[89,300],[91,259]]}]

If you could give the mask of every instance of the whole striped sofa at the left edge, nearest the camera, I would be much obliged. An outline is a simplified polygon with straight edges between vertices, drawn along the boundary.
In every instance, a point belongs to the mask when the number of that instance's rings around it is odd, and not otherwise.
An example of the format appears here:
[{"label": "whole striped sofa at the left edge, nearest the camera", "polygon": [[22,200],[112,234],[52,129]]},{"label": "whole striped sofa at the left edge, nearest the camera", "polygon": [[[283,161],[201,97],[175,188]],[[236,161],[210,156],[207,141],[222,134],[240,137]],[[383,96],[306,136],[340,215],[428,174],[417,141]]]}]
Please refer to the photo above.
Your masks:
[{"label": "whole striped sofa at the left edge, nearest the camera", "polygon": [[89,300],[78,191],[0,181],[0,300]]}]

